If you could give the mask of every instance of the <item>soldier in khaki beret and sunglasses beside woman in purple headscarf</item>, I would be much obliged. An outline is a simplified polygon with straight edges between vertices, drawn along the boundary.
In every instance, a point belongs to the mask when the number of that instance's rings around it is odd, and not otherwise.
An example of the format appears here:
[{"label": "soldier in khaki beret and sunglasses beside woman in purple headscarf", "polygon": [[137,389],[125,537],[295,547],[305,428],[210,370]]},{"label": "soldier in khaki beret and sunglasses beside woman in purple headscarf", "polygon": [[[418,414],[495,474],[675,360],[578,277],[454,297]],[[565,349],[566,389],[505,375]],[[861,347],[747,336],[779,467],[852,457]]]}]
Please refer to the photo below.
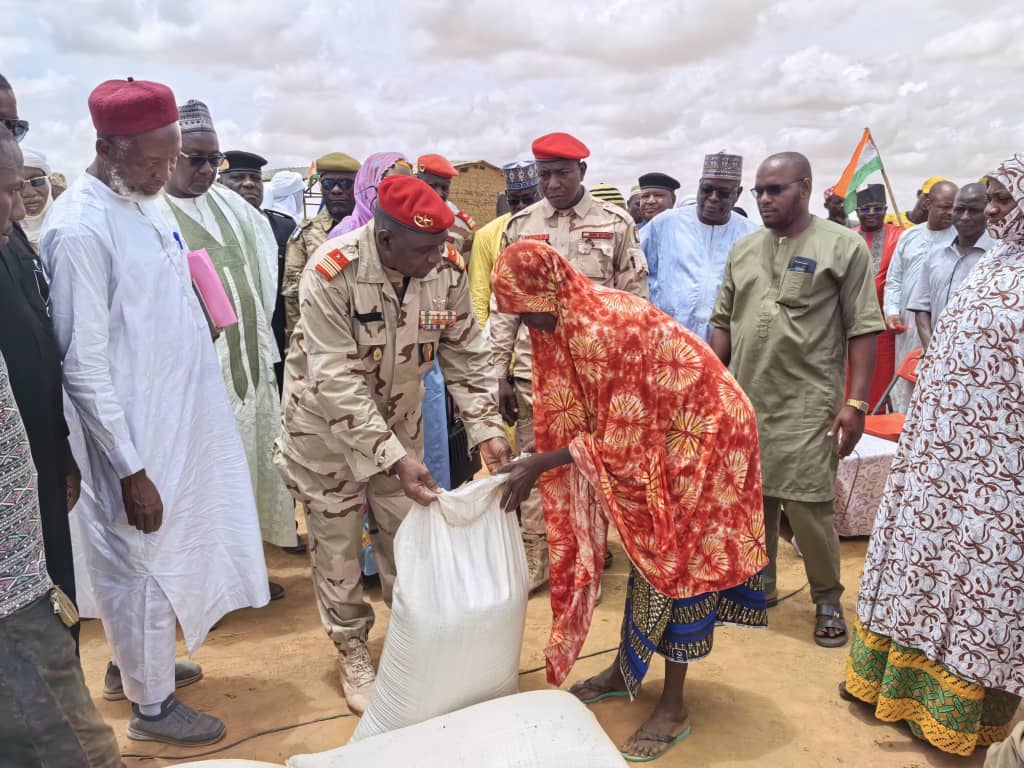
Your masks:
[{"label": "soldier in khaki beret and sunglasses beside woman in purple headscarf", "polygon": [[285,297],[285,331],[291,335],[299,319],[299,278],[313,251],[324,245],[338,222],[355,208],[355,174],[360,168],[355,158],[332,152],[316,161],[324,207],[311,219],[299,224],[285,252],[285,279],[281,293]]}]

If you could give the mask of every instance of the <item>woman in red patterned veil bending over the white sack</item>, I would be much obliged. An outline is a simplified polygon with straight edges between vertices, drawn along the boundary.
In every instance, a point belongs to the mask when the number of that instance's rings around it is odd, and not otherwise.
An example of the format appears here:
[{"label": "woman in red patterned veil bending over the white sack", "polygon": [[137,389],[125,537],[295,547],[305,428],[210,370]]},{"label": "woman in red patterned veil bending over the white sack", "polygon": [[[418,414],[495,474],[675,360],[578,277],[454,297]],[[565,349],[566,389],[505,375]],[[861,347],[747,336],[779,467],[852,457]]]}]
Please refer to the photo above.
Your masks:
[{"label": "woman in red patterned veil bending over the white sack", "polygon": [[538,453],[500,471],[509,509],[540,478],[548,680],[562,683],[586,639],[610,521],[633,566],[623,641],[608,670],[571,691],[587,703],[633,697],[664,655],[662,698],[623,746],[628,759],[653,759],[689,734],[686,665],[711,651],[716,623],[767,624],[754,410],[697,337],[594,285],[544,243],[507,248],[492,282],[499,310],[530,329]]}]

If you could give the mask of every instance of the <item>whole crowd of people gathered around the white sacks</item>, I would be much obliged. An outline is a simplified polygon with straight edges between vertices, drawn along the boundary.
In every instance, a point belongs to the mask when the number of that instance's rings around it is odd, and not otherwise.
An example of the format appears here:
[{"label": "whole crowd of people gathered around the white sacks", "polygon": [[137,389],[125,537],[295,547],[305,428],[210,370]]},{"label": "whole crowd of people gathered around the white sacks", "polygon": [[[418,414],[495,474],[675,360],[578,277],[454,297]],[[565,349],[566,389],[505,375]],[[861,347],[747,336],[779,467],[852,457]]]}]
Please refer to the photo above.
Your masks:
[{"label": "whole crowd of people gathered around the white sacks", "polygon": [[[549,133],[503,166],[497,216],[477,227],[436,154],[332,152],[308,180],[265,182],[265,159],[225,151],[210,109],[165,85],[108,81],[88,109],[95,159],[68,185],[0,77],[12,764],[120,765],[77,658],[86,601],[112,653],[102,694],[131,706],[127,735],[222,738],[220,719],[175,693],[203,676],[175,658],[176,631],[191,654],[229,611],[284,597],[264,543],[308,553],[341,691],[361,713],[375,686],[366,540],[389,603],[411,505],[462,479],[453,414],[508,476],[529,591],[550,588],[553,684],[586,639],[617,532],[622,644],[570,691],[632,698],[665,658],[626,759],[689,735],[688,664],[717,626],[768,625],[791,535],[809,640],[850,644],[842,697],[951,754],[1007,738],[1024,694],[1021,156],[962,186],[927,180],[908,225],[873,183],[855,201],[826,189],[827,216],[812,214],[810,162],[780,152],[757,167],[758,225],[738,205],[739,156],[707,156],[691,197],[660,171],[627,197],[587,181],[583,141]],[[306,216],[313,184],[322,205]],[[215,323],[194,285],[198,252],[237,323]],[[891,386],[919,350],[915,386]],[[834,484],[880,410],[905,426],[851,626]],[[1015,738],[989,759],[1020,765]]]}]

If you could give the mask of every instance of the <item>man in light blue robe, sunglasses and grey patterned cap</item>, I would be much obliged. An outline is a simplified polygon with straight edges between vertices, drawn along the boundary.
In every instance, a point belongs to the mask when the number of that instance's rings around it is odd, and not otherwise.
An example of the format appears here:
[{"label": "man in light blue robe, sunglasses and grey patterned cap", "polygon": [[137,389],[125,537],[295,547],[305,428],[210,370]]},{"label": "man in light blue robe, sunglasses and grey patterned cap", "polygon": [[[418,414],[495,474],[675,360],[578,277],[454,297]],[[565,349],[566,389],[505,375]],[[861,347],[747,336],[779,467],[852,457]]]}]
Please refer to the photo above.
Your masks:
[{"label": "man in light blue robe, sunglasses and grey patterned cap", "polygon": [[640,230],[650,269],[650,300],[705,341],[729,249],[758,225],[732,209],[742,187],[743,159],[708,155],[697,181],[697,204],[673,208]]}]

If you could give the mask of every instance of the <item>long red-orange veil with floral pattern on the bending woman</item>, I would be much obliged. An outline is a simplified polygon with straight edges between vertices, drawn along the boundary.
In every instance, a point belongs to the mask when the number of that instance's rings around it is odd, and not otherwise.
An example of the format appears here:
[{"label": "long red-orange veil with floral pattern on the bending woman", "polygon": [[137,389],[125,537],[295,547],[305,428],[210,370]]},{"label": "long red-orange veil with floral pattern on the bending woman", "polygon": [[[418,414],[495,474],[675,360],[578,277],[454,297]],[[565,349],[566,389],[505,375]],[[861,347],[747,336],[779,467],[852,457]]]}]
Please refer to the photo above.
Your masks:
[{"label": "long red-orange veil with floral pattern on the bending woman", "polygon": [[568,446],[573,459],[540,483],[548,679],[559,685],[590,628],[608,520],[670,597],[735,587],[767,565],[757,422],[702,341],[647,301],[592,283],[550,246],[509,246],[492,284],[500,311],[558,317],[553,333],[530,330],[530,343],[537,450]]}]

